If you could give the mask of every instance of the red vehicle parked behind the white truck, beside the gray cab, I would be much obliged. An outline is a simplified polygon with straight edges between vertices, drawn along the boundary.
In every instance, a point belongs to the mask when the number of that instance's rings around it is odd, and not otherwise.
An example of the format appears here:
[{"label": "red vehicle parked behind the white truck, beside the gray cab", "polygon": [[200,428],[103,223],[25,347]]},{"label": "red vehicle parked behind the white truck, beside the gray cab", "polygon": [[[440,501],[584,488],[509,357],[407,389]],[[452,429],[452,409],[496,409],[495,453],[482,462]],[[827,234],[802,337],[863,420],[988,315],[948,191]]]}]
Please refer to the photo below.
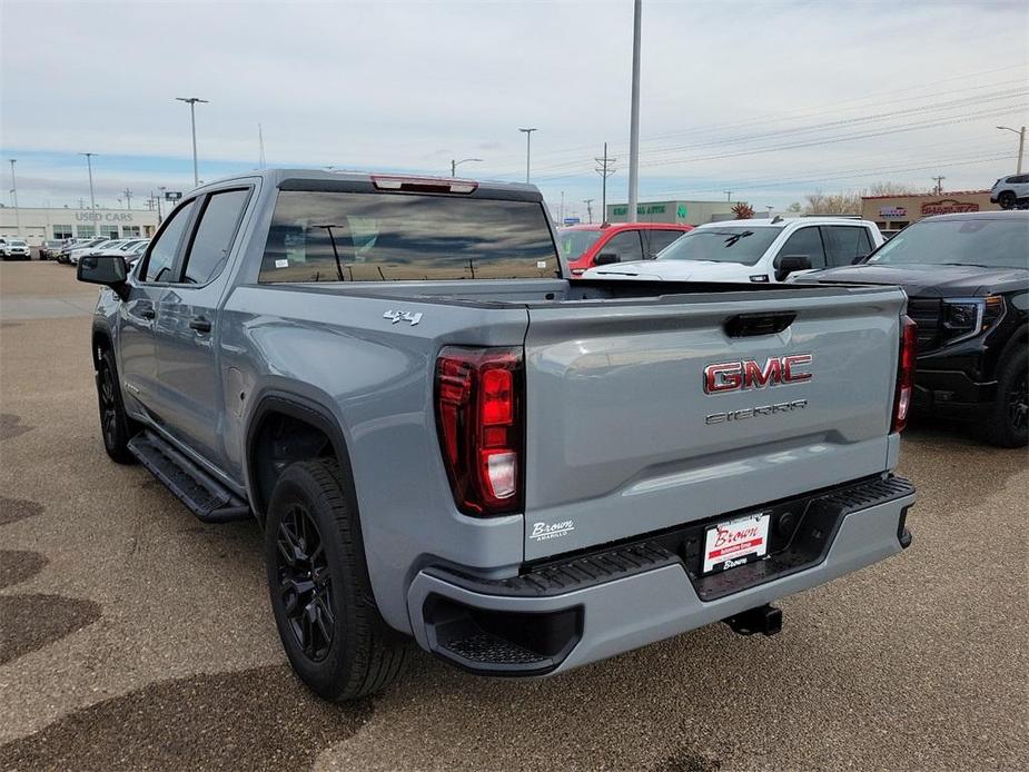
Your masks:
[{"label": "red vehicle parked behind the white truck, beside the gray cab", "polygon": [[586,268],[612,263],[650,260],[692,225],[664,222],[615,222],[613,225],[573,225],[558,228],[561,254],[568,260],[573,276]]}]

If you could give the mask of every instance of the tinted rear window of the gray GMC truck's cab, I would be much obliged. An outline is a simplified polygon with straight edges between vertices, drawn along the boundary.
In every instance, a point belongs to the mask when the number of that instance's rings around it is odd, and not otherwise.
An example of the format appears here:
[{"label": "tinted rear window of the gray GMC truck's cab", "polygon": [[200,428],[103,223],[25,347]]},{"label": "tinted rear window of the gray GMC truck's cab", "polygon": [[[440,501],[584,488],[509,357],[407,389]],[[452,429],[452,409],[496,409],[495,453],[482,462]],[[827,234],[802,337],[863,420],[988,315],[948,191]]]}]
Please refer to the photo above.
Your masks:
[{"label": "tinted rear window of the gray GMC truck's cab", "polygon": [[280,190],[258,280],[557,276],[543,205],[458,196]]}]

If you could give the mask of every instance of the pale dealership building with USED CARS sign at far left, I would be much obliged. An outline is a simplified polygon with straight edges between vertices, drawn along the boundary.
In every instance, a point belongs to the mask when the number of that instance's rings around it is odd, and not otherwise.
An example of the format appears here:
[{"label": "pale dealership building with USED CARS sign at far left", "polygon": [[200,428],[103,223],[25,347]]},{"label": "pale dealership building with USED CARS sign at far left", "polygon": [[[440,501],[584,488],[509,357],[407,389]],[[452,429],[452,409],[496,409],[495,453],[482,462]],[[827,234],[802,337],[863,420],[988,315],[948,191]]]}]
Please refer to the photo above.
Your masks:
[{"label": "pale dealership building with USED CARS sign at far left", "polygon": [[65,238],[107,236],[148,238],[157,230],[157,211],[149,209],[0,208],[0,237],[23,238],[30,247]]}]

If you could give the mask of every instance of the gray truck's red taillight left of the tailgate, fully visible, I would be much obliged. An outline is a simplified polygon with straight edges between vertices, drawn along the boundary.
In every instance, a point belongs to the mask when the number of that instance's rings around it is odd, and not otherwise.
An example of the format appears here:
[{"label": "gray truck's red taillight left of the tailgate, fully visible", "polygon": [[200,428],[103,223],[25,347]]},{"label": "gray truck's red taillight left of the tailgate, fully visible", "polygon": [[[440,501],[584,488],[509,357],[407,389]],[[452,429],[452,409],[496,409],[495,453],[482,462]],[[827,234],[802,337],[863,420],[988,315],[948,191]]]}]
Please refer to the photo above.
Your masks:
[{"label": "gray truck's red taillight left of the tailgate, fully visible", "polygon": [[436,424],[457,507],[522,508],[522,352],[449,346],[436,359]]}]

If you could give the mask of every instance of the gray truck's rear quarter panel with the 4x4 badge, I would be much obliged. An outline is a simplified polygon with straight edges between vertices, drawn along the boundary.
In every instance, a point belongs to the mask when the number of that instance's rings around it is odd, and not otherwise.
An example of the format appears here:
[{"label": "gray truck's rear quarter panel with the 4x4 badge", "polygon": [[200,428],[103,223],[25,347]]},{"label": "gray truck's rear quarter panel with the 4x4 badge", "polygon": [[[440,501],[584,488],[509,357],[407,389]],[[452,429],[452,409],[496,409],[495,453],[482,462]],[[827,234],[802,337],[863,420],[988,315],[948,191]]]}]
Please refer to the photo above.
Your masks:
[{"label": "gray truck's rear quarter panel with the 4x4 badge", "polygon": [[[344,288],[345,289],[345,288]],[[413,326],[384,318],[420,313]],[[436,436],[433,388],[443,345],[518,346],[523,308],[348,296],[303,286],[243,286],[224,308],[226,452],[249,484],[247,427],[264,396],[296,395],[342,429],[368,572],[386,621],[407,631],[407,582],[423,565],[521,563],[523,517],[456,511]],[[253,489],[253,486],[249,486]]]}]

